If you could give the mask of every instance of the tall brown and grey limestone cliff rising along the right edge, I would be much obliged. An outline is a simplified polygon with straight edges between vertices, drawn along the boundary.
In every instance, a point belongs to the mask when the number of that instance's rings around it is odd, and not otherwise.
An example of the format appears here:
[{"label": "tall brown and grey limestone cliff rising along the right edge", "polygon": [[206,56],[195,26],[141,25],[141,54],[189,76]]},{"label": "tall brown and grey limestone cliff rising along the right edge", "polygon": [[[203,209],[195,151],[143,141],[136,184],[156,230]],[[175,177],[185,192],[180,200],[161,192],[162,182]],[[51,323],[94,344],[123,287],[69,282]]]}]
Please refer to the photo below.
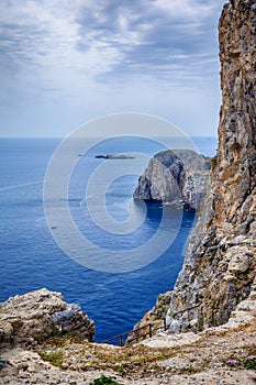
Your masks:
[{"label": "tall brown and grey limestone cliff rising along the right edge", "polygon": [[219,148],[204,207],[170,294],[169,332],[226,322],[256,276],[255,0],[230,0],[219,32]]}]

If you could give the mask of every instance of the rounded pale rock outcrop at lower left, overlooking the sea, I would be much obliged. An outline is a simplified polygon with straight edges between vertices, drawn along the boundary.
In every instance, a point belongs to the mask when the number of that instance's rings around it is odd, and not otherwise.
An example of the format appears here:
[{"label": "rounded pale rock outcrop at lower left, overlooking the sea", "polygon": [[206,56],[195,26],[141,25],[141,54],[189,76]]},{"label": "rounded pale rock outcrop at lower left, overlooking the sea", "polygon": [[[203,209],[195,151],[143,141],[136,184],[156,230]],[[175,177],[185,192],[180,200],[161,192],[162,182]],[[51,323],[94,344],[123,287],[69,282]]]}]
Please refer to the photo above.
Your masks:
[{"label": "rounded pale rock outcrop at lower left, overlooking the sea", "polygon": [[0,346],[30,346],[54,336],[74,333],[93,341],[94,322],[78,304],[42,288],[0,304]]}]

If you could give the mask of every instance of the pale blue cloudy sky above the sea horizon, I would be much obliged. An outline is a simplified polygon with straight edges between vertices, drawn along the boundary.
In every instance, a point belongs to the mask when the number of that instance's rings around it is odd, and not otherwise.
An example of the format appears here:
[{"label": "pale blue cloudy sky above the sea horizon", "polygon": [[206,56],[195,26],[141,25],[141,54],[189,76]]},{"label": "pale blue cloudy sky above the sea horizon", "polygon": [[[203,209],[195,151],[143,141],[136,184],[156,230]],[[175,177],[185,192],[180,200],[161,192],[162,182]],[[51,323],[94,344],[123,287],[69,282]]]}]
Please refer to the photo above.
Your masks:
[{"label": "pale blue cloudy sky above the sea horizon", "polygon": [[215,134],[225,0],[1,0],[0,134],[144,112]]}]

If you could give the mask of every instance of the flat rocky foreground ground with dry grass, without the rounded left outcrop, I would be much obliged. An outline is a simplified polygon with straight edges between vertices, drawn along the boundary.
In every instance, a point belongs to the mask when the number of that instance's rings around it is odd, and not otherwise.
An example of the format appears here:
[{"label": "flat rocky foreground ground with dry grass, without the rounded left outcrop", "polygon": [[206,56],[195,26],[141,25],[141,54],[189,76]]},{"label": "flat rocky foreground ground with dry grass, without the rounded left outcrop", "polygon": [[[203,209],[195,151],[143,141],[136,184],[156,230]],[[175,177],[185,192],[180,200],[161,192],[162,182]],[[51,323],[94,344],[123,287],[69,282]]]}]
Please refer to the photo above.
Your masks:
[{"label": "flat rocky foreground ground with dry grass, without the rounded left outcrop", "polygon": [[[225,326],[202,332],[159,333],[132,346],[52,338],[2,353],[1,384],[254,385],[256,285]],[[0,361],[1,363],[1,361]],[[107,382],[107,380],[109,381]]]}]

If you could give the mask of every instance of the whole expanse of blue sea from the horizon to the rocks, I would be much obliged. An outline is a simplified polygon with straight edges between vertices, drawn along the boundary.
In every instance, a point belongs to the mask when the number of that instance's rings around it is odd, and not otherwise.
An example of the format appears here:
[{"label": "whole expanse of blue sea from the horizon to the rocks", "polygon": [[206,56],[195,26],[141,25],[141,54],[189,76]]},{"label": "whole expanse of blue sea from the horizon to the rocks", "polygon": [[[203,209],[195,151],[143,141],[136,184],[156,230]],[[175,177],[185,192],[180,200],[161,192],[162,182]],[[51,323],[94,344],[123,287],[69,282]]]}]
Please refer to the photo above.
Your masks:
[{"label": "whole expanse of blue sea from the horizon to the rocks", "polygon": [[[215,136],[191,141],[201,154],[215,154]],[[96,341],[102,342],[130,331],[157,296],[174,287],[194,212],[133,200],[138,175],[165,150],[163,141],[134,138],[104,140],[86,154],[75,150],[67,191],[48,199],[45,178],[60,143],[53,138],[0,140],[0,301],[42,287],[60,292],[94,320]],[[116,153],[131,158],[96,157]],[[75,244],[76,234],[62,228],[64,208],[85,244]],[[57,215],[49,218],[51,212]],[[147,243],[154,234],[155,243]],[[156,248],[168,238],[163,250]]]}]

